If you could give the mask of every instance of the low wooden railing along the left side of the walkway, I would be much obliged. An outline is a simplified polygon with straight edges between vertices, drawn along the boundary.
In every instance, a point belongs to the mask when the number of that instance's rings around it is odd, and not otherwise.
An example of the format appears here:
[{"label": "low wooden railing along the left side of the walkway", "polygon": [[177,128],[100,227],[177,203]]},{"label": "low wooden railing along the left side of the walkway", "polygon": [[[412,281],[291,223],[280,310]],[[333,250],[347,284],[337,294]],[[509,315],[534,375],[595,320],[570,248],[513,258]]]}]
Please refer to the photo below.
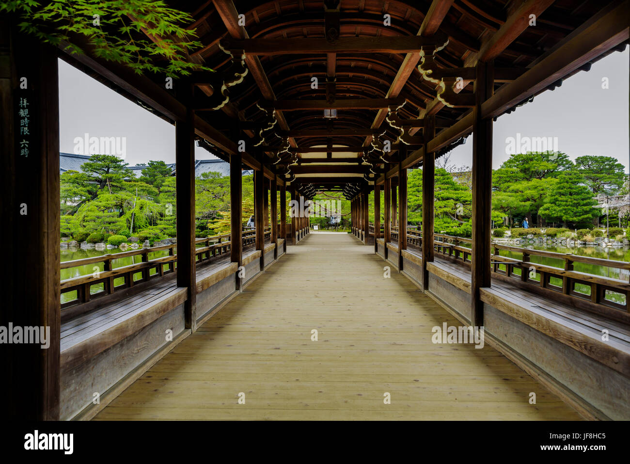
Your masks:
[{"label": "low wooden railing along the left side of the walkway", "polygon": [[[265,238],[270,238],[271,228],[265,228]],[[231,249],[231,235],[215,235],[207,238],[195,239],[195,261],[197,265],[208,264],[219,257],[229,253]],[[243,232],[243,248],[253,245],[256,240],[256,230],[251,229]],[[202,246],[198,246],[202,245]],[[129,252],[112,253],[91,258],[82,258],[72,261],[62,262],[60,269],[71,269],[85,265],[94,265],[90,274],[79,275],[71,279],[60,282],[60,294],[68,294],[76,291],[76,298],[61,304],[61,308],[66,309],[71,306],[88,303],[96,298],[111,295],[123,289],[129,289],[135,285],[157,281],[165,275],[172,274],[176,270],[177,255],[176,243],[169,245],[152,246],[151,248],[141,248]],[[168,251],[168,256],[149,259],[150,253]],[[140,256],[141,262],[112,267],[112,261],[122,258]],[[101,269],[101,265],[102,268]],[[103,286],[103,289],[93,293],[93,287]]]}]

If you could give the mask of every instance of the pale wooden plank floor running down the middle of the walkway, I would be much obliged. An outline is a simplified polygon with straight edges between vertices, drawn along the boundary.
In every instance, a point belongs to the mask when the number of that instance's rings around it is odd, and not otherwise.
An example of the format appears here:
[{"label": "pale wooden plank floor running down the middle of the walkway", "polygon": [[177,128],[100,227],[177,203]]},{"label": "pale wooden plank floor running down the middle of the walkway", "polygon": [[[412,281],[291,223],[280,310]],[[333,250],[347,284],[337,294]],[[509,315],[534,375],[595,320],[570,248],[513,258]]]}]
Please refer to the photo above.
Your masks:
[{"label": "pale wooden plank floor running down the middle of the walkway", "polygon": [[459,323],[385,265],[311,233],[95,419],[580,419],[489,345],[433,344]]}]

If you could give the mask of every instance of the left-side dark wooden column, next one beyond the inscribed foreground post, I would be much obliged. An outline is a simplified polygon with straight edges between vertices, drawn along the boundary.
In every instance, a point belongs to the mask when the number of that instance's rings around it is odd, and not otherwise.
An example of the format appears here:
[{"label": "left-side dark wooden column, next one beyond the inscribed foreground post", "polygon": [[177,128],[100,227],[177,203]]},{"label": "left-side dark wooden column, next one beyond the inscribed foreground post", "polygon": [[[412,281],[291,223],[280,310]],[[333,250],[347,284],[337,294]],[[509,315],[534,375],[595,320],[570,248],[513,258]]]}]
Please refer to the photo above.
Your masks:
[{"label": "left-side dark wooden column, next one beyond the inscribed foreground post", "polygon": [[192,84],[180,83],[178,99],[186,104],[186,120],[175,122],[177,188],[177,286],[188,288],[185,327],[195,330],[197,322],[195,280],[195,112]]}]

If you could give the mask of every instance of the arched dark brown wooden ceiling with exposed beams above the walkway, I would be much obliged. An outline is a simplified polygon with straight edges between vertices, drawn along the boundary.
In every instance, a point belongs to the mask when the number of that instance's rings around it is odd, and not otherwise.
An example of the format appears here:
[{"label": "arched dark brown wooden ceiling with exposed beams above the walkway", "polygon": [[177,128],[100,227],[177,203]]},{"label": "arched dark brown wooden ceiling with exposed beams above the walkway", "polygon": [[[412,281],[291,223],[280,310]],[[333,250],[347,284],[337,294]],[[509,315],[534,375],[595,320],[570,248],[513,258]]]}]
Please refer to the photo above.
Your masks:
[{"label": "arched dark brown wooden ceiling with exposed beams above the walkway", "polygon": [[[286,178],[293,182],[335,188],[355,178],[357,182],[365,182],[370,167],[378,177],[399,160],[396,145],[373,166],[362,165],[357,158],[370,148],[374,135],[384,129],[382,137],[396,141],[399,134],[386,122],[388,103],[404,101],[396,117],[408,124],[409,136],[418,137],[418,144],[412,144],[407,151],[417,149],[423,142],[419,137],[423,117],[437,116],[439,135],[470,112],[466,107],[445,106],[437,98],[438,84],[423,78],[418,71],[420,54],[413,49],[414,44],[421,40],[438,43],[447,38],[448,44],[435,53],[435,64],[445,70],[474,67],[478,61],[493,59],[498,70],[496,91],[539,62],[592,16],[619,2],[178,0],[167,3],[187,11],[195,19],[190,28],[196,28],[204,46],[191,55],[193,61],[203,62],[220,74],[232,65],[231,57],[222,47],[245,51],[248,73],[243,82],[229,88],[229,101],[224,107],[199,111],[200,118],[226,137],[233,138],[234,127],[239,127],[243,137],[253,145],[258,141],[258,131],[269,122],[270,113],[264,109],[275,107],[274,131],[286,137],[290,148],[280,154],[282,160],[273,165],[272,171],[282,176],[290,171]],[[244,26],[243,16],[239,24],[239,15],[244,15]],[[388,25],[384,24],[386,15],[389,15]],[[530,15],[536,15],[536,26],[529,26]],[[411,44],[413,52],[404,50],[407,44]],[[317,78],[317,88],[311,85],[313,78]],[[471,94],[471,81],[464,80],[464,84],[464,88],[456,91]],[[213,92],[212,86],[202,82],[197,85],[195,98],[203,101]],[[335,119],[323,117],[323,108],[327,106],[337,109]],[[265,141],[260,146],[265,149],[250,151],[251,145],[248,153],[266,164],[277,161],[274,150],[282,148],[282,142],[278,146],[277,142]],[[221,150],[217,154],[226,156]]]}]

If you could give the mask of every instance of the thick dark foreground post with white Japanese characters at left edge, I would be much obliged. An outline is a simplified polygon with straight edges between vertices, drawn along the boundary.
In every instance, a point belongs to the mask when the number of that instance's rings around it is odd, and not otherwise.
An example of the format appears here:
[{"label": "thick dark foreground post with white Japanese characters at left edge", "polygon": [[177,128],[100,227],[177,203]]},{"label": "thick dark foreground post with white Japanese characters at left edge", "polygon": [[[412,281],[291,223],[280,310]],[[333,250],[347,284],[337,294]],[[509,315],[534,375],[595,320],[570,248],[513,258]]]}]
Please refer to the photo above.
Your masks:
[{"label": "thick dark foreground post with white Japanese characters at left edge", "polygon": [[[57,50],[0,18],[0,203],[8,269],[0,325],[48,327],[50,343],[0,345],[5,419],[59,420],[58,92]],[[20,110],[28,110],[28,122]]]}]

